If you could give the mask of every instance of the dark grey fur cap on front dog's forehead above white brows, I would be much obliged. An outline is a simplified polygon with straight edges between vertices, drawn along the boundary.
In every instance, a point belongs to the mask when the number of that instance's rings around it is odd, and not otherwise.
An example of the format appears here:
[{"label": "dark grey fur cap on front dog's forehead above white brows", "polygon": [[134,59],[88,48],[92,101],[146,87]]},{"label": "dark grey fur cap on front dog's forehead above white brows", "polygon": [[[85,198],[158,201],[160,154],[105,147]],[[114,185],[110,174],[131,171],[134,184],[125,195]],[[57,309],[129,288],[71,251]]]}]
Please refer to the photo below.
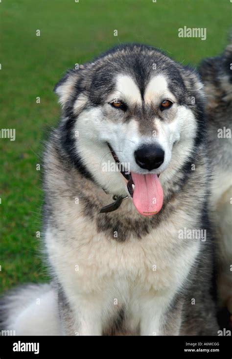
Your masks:
[{"label": "dark grey fur cap on front dog's forehead above white brows", "polygon": [[181,98],[185,88],[178,64],[159,50],[144,45],[126,46],[100,56],[93,63],[93,72],[90,96],[93,102],[98,103],[115,90],[119,74],[134,80],[142,99],[151,78],[159,74],[168,78],[170,91],[175,96]]}]

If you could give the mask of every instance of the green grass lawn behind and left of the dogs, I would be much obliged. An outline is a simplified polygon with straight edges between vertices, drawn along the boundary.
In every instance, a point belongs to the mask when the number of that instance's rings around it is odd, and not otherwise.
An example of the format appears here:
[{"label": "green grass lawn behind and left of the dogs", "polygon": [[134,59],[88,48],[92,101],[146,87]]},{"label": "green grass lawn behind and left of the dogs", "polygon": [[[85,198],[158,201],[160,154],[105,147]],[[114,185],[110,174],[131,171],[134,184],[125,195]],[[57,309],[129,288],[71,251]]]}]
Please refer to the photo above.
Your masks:
[{"label": "green grass lawn behind and left of the dogs", "polygon": [[[52,90],[64,72],[126,42],[162,48],[196,66],[223,50],[231,15],[230,0],[0,2],[0,128],[16,129],[14,142],[0,139],[0,291],[47,280],[36,238],[43,204],[36,164],[46,127],[59,118]],[[184,25],[206,27],[207,40],[179,38]]]}]

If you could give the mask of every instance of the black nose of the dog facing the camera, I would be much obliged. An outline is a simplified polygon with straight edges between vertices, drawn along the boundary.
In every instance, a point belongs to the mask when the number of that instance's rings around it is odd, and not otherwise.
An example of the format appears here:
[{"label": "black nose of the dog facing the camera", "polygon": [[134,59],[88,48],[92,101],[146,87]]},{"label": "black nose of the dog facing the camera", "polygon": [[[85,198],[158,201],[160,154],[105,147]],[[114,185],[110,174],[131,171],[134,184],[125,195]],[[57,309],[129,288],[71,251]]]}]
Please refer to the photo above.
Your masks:
[{"label": "black nose of the dog facing the camera", "polygon": [[144,144],[135,151],[135,160],[139,167],[151,171],[162,165],[164,151],[157,145]]}]

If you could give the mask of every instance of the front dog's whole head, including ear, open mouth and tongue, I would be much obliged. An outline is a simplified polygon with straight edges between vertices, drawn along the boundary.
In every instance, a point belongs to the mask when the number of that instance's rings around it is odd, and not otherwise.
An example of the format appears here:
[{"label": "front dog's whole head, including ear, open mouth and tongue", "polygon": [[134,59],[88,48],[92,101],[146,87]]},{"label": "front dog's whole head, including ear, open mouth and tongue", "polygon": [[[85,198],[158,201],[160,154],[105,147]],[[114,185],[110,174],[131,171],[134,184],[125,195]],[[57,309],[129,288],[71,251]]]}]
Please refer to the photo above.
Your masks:
[{"label": "front dog's whole head, including ear, open mouth and tongue", "polygon": [[68,72],[55,92],[72,162],[116,195],[128,194],[120,171],[131,175],[139,213],[159,212],[162,183],[182,168],[204,132],[196,74],[156,49],[121,46]]}]

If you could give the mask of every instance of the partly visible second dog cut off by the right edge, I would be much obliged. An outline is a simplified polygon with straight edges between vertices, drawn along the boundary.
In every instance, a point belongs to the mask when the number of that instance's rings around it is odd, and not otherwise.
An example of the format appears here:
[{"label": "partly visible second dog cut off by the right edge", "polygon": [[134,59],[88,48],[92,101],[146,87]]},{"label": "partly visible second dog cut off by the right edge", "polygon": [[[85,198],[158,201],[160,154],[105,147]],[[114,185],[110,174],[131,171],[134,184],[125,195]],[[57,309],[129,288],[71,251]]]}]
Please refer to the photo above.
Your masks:
[{"label": "partly visible second dog cut off by the right edge", "polygon": [[232,314],[232,41],[221,56],[204,60],[200,73],[209,117],[207,137],[213,175],[210,215],[219,244],[219,307],[227,307]]}]

